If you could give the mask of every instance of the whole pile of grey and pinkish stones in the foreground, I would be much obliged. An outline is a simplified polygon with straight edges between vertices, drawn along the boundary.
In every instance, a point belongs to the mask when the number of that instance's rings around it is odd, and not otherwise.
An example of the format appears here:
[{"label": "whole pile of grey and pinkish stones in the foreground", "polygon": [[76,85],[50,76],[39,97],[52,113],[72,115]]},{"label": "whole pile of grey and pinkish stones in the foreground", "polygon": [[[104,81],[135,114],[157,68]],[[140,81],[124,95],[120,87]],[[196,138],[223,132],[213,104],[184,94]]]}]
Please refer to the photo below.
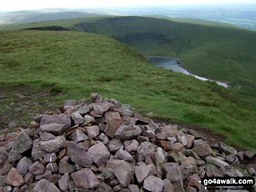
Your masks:
[{"label": "whole pile of grey and pinkish stones in the foreground", "polygon": [[92,93],[0,135],[0,192],[203,192],[205,168],[208,176],[255,175],[234,168],[254,156]]}]

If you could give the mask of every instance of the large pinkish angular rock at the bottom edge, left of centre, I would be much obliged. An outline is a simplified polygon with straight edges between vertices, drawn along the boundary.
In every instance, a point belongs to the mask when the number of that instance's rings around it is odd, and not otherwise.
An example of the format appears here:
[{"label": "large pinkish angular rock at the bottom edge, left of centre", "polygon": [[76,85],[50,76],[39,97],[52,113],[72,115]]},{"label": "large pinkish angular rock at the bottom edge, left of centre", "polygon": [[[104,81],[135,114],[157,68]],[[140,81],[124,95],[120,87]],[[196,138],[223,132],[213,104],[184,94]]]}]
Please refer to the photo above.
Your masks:
[{"label": "large pinkish angular rock at the bottom edge, left of centre", "polygon": [[75,186],[85,189],[94,188],[99,185],[99,180],[89,168],[84,168],[71,174]]}]

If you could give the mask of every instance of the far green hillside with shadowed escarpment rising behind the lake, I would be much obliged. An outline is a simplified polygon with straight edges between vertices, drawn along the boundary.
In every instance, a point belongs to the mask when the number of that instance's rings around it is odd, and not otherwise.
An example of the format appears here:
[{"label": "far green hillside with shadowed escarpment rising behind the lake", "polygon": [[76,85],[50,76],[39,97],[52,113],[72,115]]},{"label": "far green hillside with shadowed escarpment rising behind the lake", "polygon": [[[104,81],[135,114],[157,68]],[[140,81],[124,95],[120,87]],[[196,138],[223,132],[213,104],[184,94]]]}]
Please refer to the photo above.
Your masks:
[{"label": "far green hillside with shadowed escarpment rising behind the lake", "polygon": [[242,105],[256,110],[256,31],[205,24],[205,20],[174,20],[184,22],[148,17],[76,18],[6,25],[0,30],[60,26],[114,37],[147,56],[180,57],[193,73],[236,85],[232,90]]}]

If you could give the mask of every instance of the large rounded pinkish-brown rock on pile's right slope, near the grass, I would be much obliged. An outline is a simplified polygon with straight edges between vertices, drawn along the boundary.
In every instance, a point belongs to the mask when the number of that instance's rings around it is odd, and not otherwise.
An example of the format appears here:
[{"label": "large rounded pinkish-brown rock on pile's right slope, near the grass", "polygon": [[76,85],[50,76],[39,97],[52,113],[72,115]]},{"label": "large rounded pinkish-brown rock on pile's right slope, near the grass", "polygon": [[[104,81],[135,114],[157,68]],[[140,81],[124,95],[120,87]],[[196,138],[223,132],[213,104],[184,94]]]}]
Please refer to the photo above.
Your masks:
[{"label": "large rounded pinkish-brown rock on pile's right slope, near the grass", "polygon": [[207,157],[212,154],[212,149],[202,139],[195,140],[194,148],[192,148],[191,150],[198,154],[199,157]]}]

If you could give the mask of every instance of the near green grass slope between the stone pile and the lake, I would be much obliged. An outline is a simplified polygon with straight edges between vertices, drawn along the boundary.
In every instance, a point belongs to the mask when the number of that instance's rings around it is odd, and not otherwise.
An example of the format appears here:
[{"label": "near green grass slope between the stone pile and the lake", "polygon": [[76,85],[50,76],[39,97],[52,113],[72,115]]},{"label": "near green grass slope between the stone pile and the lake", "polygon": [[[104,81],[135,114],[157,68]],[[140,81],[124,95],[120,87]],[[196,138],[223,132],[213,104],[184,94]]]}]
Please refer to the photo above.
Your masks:
[{"label": "near green grass slope between the stone pile and the lake", "polygon": [[[206,126],[229,143],[256,150],[256,113],[240,108],[228,89],[149,64],[135,49],[106,36],[0,32],[0,68],[1,90],[18,84],[50,88],[52,94],[62,91],[54,97],[58,104],[99,92],[144,114]],[[9,105],[8,99],[0,100],[0,108]]]}]

